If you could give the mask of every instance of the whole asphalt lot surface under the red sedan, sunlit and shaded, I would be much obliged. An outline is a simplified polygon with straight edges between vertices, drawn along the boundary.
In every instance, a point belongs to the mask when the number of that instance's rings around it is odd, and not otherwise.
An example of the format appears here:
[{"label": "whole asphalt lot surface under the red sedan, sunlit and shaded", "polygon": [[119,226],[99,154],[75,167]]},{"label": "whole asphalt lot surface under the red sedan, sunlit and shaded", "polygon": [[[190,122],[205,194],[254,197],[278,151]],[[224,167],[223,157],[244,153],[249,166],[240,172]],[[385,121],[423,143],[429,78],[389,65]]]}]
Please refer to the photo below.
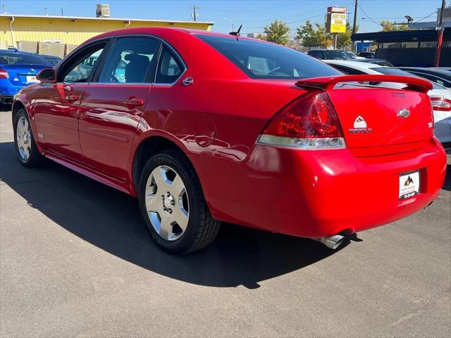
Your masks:
[{"label": "whole asphalt lot surface under the red sedan, sunlit and shaded", "polygon": [[339,251],[225,224],[177,256],[134,198],[21,167],[0,112],[0,336],[450,337],[450,159],[431,207]]}]

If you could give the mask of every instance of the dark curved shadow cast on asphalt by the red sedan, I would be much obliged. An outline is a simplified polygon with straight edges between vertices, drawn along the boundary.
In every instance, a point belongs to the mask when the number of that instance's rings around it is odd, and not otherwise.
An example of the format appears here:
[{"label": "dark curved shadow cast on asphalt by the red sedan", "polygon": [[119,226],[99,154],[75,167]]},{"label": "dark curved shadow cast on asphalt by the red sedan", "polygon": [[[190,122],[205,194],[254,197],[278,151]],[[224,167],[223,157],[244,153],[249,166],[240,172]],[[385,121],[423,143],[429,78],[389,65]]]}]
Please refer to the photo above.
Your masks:
[{"label": "dark curved shadow cast on asphalt by the red sedan", "polygon": [[0,179],[59,226],[118,258],[185,282],[255,289],[337,252],[309,239],[223,224],[208,248],[170,255],[150,239],[135,198],[58,164],[27,169],[13,143],[0,143],[0,163]]}]

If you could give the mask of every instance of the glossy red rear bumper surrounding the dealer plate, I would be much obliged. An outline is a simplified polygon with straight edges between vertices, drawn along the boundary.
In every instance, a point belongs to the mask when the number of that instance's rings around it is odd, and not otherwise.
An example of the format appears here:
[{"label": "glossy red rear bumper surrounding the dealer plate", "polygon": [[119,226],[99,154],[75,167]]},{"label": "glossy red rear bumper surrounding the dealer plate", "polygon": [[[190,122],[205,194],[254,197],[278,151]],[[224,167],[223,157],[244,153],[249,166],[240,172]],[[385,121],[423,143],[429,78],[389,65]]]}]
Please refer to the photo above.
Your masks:
[{"label": "glossy red rear bumper surrounding the dealer plate", "polygon": [[[350,149],[256,145],[240,166],[228,169],[228,177],[237,175],[235,184],[218,178],[218,195],[206,189],[214,217],[294,236],[325,237],[378,227],[426,207],[443,186],[446,155],[435,139],[421,150],[364,158]],[[420,169],[420,193],[399,200],[399,175],[414,169]]]}]

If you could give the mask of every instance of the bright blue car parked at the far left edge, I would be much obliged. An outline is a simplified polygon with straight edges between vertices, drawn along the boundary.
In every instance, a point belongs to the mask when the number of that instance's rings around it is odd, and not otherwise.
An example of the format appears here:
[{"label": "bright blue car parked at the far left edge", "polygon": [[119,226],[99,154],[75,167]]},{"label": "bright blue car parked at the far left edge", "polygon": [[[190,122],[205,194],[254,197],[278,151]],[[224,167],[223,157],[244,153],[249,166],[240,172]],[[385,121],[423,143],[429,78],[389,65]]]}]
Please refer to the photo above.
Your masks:
[{"label": "bright blue car parked at the far left edge", "polygon": [[27,85],[36,83],[36,74],[52,68],[37,54],[0,49],[0,103],[11,104],[16,93]]}]

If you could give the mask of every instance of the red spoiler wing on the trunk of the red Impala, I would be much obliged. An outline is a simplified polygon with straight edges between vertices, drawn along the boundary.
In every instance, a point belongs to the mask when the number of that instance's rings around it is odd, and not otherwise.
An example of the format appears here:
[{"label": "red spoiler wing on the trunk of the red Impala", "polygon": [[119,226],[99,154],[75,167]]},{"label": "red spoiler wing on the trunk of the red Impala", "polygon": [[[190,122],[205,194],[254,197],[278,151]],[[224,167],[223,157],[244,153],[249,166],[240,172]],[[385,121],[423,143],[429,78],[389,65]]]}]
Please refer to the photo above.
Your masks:
[{"label": "red spoiler wing on the trunk of the red Impala", "polygon": [[303,87],[307,90],[315,89],[333,89],[337,83],[343,82],[393,82],[405,83],[407,90],[415,90],[416,92],[424,92],[425,94],[432,89],[432,83],[422,78],[411,78],[410,76],[395,76],[395,75],[345,75],[345,76],[325,76],[323,78],[306,78],[297,81],[298,87]]}]

